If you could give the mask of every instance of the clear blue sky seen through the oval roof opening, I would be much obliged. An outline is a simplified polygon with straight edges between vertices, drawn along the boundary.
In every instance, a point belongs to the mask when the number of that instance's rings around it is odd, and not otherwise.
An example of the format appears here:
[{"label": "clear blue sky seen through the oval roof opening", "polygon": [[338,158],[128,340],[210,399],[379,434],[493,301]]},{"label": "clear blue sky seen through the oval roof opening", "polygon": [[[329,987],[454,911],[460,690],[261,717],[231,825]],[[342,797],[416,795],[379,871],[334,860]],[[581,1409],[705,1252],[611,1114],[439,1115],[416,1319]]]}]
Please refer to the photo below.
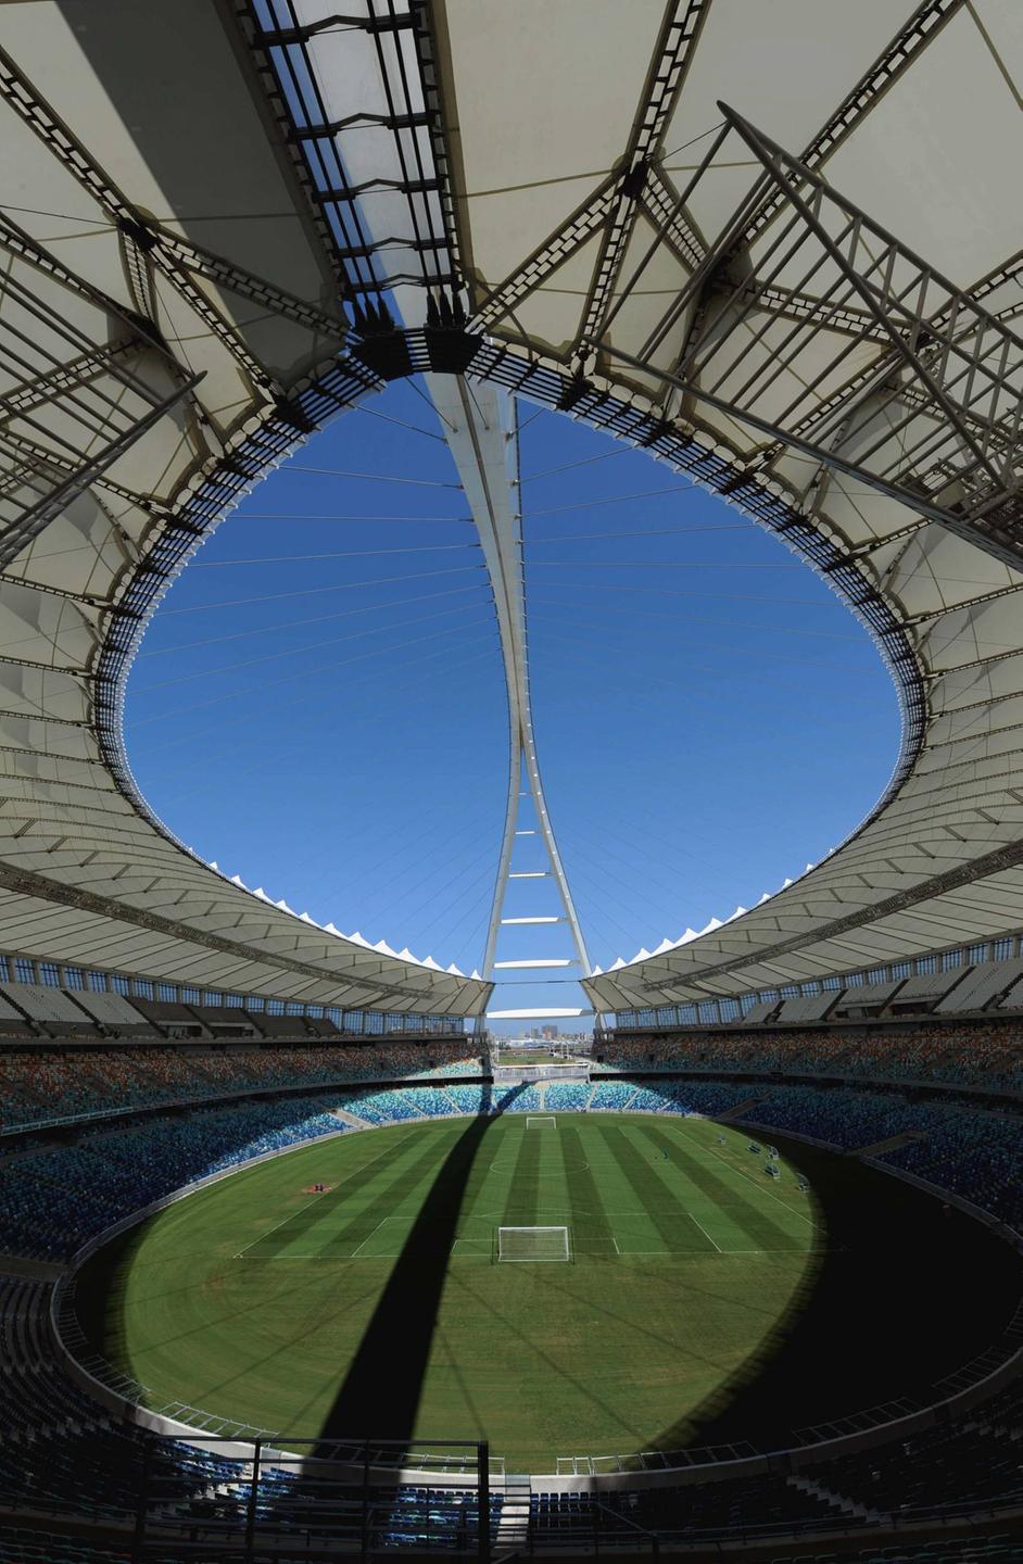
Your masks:
[{"label": "clear blue sky seen through the oval roof opening", "polygon": [[[538,754],[608,967],[835,846],[890,774],[898,704],[831,590],[726,502],[563,414],[522,404],[521,425]],[[339,418],[145,635],[125,732],[156,813],[296,912],[471,971],[507,774],[482,563],[422,388]],[[513,891],[508,913],[547,910],[544,882]],[[568,954],[526,932],[499,956]],[[510,976],[494,1007],[580,1003]]]}]

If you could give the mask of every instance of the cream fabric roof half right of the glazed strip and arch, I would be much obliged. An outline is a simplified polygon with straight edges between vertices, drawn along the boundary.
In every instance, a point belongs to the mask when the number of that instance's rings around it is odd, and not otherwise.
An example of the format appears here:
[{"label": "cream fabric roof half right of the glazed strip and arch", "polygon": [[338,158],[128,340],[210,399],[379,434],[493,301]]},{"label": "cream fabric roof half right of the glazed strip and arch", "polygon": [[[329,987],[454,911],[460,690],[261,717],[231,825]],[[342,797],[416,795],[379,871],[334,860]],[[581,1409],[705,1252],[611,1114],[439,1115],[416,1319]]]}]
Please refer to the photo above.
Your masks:
[{"label": "cream fabric roof half right of the glazed strip and arch", "polygon": [[[594,976],[593,1003],[776,987],[1018,927],[1018,499],[992,513],[1001,538],[982,518],[1023,475],[1009,197],[1023,11],[580,0],[551,23],[543,0],[447,0],[438,13],[471,316],[576,375],[574,416],[601,421],[610,393],[721,457],[737,504],[757,513],[774,496],[809,521],[818,568],[882,632],[906,702],[893,785],[838,851],[702,937]],[[795,221],[720,103],[824,181],[799,185],[823,236]],[[863,475],[793,447],[815,433]],[[993,450],[992,472],[979,458]]]}]

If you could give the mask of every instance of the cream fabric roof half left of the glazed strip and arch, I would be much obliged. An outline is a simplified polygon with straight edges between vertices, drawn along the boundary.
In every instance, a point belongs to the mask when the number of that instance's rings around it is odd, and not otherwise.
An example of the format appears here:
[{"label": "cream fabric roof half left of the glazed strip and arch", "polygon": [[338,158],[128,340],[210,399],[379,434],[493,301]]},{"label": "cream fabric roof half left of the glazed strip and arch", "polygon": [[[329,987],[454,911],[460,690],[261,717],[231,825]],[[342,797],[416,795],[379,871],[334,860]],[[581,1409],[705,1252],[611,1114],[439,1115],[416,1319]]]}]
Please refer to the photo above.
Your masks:
[{"label": "cream fabric roof half left of the glazed strip and arch", "polygon": [[[189,854],[120,751],[119,680],[160,588],[350,399],[343,278],[255,61],[205,0],[16,3],[0,45],[0,948],[479,1010],[488,985]],[[310,402],[332,375],[336,400]]]}]

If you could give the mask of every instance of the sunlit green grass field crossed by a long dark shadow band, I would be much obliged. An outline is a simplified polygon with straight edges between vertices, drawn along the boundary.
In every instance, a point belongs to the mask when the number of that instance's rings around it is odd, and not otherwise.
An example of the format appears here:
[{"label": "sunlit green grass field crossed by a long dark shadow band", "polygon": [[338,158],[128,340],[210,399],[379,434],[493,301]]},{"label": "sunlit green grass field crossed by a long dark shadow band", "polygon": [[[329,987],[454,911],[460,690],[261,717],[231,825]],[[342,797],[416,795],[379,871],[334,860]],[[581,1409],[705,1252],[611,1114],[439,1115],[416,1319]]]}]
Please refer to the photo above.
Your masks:
[{"label": "sunlit green grass field crossed by a long dark shadow band", "polygon": [[[782,1157],[770,1179],[748,1139],[571,1114],[344,1135],[150,1218],[89,1264],[81,1318],[153,1406],[296,1437],[485,1436],[508,1470],[721,1437],[732,1408],[737,1426],[759,1415],[749,1387],[773,1364],[799,1386],[770,1406],[787,1426],[827,1378],[807,1325],[823,1276],[831,1265],[842,1282],[849,1243],[884,1220],[837,1234],[820,1190],[838,1159],[818,1154],[824,1171],[801,1193],[796,1170]],[[308,1193],[314,1181],[328,1192]],[[497,1264],[502,1225],[566,1226],[571,1262]],[[924,1262],[904,1248],[915,1276]],[[846,1333],[856,1384],[867,1293],[846,1278],[827,1295],[823,1326]]]}]

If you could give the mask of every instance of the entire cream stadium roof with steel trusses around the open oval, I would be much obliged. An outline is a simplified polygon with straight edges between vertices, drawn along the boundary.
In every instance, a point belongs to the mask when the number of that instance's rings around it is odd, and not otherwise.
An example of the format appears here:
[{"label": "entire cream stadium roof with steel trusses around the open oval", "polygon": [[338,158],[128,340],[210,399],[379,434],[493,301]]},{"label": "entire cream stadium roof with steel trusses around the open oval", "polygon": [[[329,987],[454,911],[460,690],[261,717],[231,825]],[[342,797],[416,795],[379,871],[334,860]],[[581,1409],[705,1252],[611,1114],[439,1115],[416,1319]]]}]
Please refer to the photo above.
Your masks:
[{"label": "entire cream stadium roof with steel trusses around the open oval", "polygon": [[832,582],[901,693],[859,830],[590,979],[599,1009],[1023,923],[1018,5],[34,0],[0,42],[0,942],[482,1009],[488,985],[216,876],[120,741],[189,551],[305,433],[419,369],[726,493]]}]

